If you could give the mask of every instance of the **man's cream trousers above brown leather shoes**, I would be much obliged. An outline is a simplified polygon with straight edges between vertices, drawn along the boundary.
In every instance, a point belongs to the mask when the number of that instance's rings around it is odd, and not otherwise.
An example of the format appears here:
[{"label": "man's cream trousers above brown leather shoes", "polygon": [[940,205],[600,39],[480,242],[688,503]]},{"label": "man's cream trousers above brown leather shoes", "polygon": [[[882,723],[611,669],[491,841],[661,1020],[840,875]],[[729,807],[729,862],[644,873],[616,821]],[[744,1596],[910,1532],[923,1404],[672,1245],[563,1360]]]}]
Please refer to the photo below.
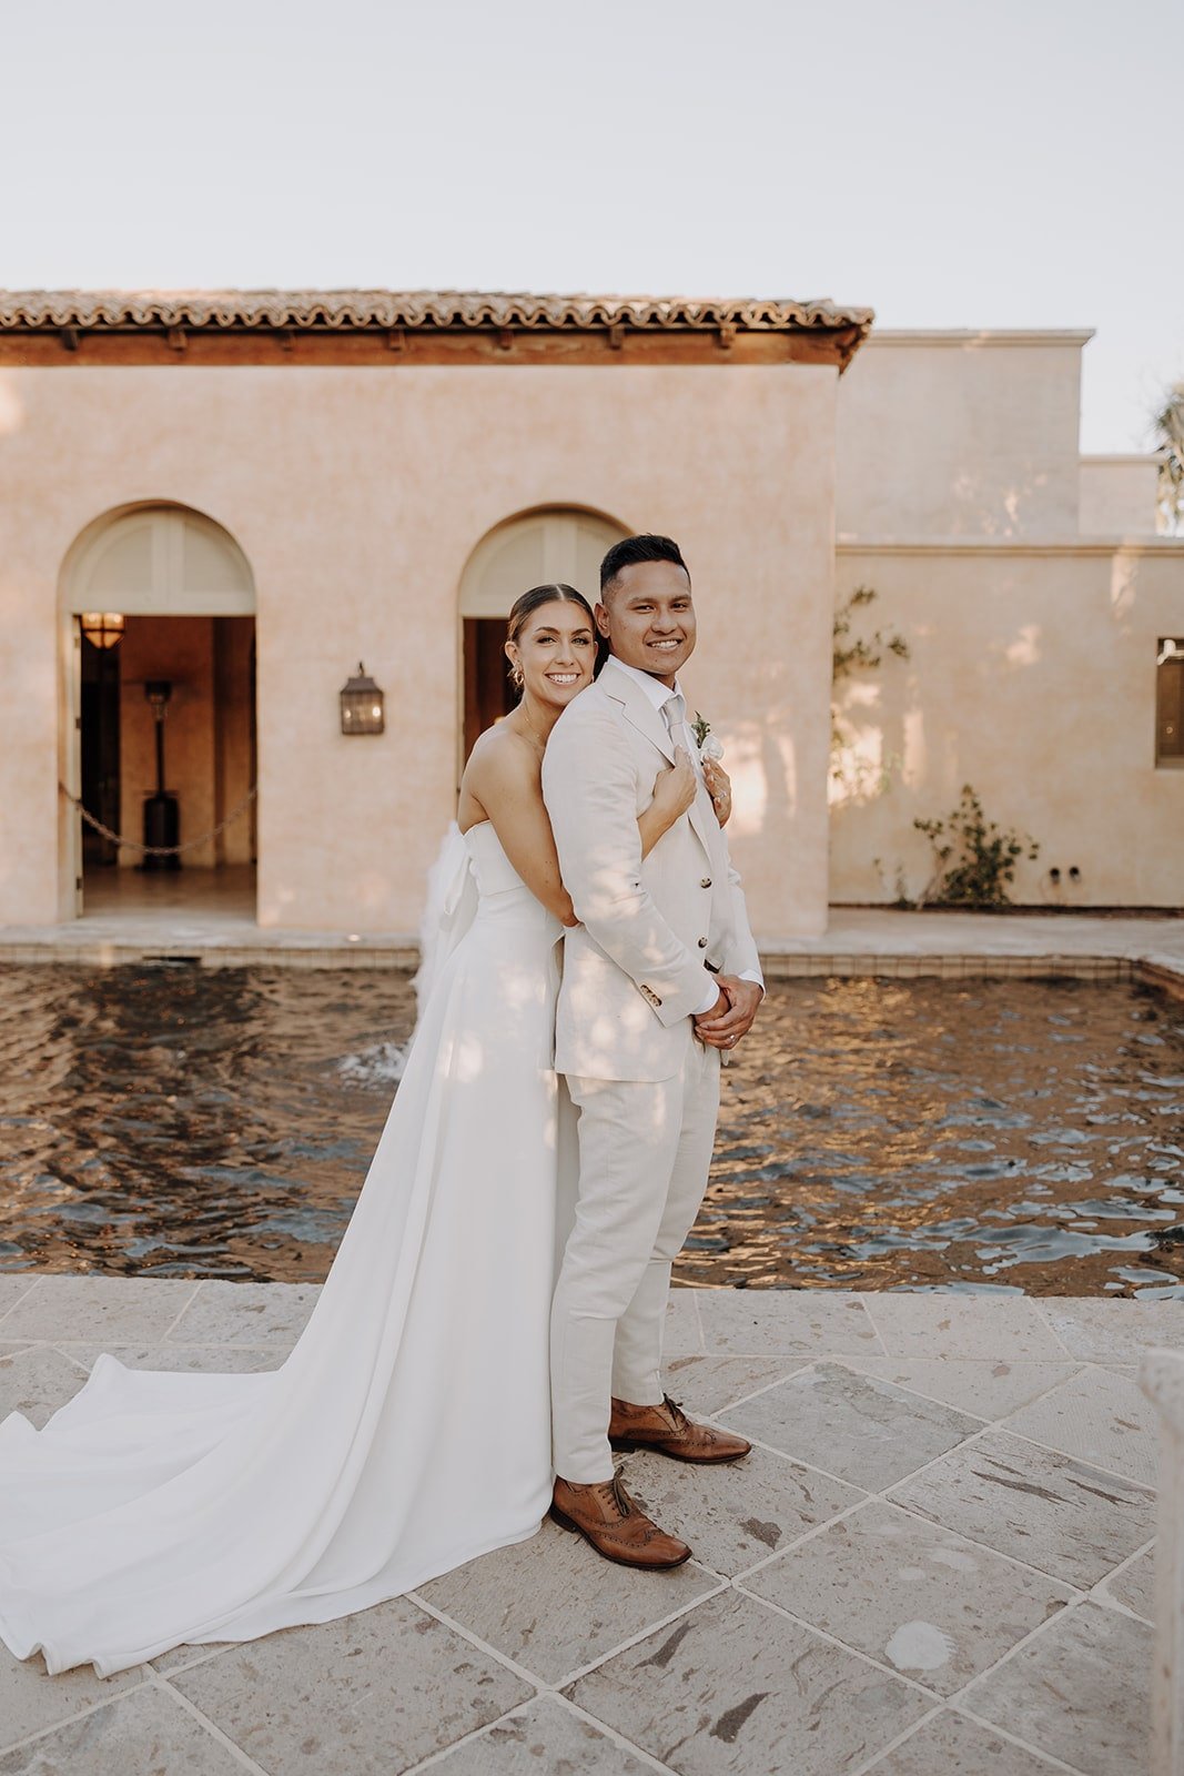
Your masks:
[{"label": "man's cream trousers above brown leather shoes", "polygon": [[550,1316],[556,1472],[612,1478],[611,1396],[662,1399],[671,1261],[706,1188],[719,1051],[687,1044],[673,1080],[568,1074],[579,1110],[579,1192]]}]

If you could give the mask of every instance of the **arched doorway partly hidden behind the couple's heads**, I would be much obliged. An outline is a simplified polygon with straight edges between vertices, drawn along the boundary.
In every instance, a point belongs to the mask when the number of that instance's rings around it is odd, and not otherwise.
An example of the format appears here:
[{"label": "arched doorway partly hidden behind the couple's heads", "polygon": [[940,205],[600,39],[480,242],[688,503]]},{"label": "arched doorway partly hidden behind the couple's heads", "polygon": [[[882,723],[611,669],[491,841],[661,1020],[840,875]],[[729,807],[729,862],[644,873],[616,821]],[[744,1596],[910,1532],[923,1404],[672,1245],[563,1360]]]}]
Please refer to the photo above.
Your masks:
[{"label": "arched doorway partly hidden behind the couple's heads", "polygon": [[604,552],[627,535],[596,511],[547,506],[495,526],[472,551],[460,583],[462,769],[478,735],[515,703],[502,652],[509,606],[549,581],[564,581],[595,604]]}]

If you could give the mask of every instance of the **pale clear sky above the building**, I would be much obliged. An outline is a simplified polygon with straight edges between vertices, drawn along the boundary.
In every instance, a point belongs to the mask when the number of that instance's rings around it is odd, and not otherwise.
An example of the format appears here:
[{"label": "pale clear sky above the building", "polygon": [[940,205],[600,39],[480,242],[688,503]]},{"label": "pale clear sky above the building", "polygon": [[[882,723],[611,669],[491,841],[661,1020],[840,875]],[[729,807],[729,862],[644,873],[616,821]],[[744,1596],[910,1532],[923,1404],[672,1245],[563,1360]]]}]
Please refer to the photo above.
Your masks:
[{"label": "pale clear sky above the building", "polygon": [[[818,297],[1184,380],[1184,0],[0,0],[0,284]],[[857,361],[850,375],[857,375]]]}]

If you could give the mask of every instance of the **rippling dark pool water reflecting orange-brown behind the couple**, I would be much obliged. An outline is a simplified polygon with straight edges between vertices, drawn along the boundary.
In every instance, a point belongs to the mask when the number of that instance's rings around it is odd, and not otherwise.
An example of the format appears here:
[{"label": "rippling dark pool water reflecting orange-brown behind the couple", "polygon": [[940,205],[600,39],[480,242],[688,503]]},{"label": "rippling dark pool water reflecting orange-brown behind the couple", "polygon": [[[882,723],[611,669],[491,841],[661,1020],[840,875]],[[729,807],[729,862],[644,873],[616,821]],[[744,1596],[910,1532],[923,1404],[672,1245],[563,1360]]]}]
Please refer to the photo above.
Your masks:
[{"label": "rippling dark pool water reflecting orange-brown behind the couple", "polygon": [[[405,975],[0,968],[0,1270],[320,1280]],[[698,1284],[1184,1295],[1184,1005],[779,982],[726,1074]]]}]

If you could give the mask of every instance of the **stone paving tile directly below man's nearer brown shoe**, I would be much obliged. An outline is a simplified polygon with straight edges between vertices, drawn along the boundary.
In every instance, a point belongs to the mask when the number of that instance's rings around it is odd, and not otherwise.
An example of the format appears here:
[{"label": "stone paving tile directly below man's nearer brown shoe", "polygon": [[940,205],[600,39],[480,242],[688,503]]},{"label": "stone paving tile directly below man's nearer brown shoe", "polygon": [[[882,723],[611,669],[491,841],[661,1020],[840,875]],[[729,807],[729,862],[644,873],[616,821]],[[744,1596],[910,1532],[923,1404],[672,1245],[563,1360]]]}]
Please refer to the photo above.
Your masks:
[{"label": "stone paving tile directly below man's nearer brown shoe", "polygon": [[719,1579],[694,1561],[673,1572],[634,1572],[547,1522],[529,1542],[483,1554],[415,1595],[556,1684],[717,1588]]}]

